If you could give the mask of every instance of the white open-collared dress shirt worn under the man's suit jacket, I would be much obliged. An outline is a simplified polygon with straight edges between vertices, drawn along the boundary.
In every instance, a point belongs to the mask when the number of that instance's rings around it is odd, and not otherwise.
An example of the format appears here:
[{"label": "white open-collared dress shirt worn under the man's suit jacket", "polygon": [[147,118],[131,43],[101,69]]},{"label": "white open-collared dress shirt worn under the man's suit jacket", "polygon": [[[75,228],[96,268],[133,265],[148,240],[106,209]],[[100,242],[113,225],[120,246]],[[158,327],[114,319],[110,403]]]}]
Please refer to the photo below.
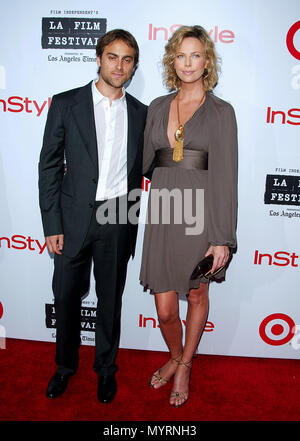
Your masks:
[{"label": "white open-collared dress shirt worn under the man's suit jacket", "polygon": [[120,99],[103,96],[92,82],[99,179],[96,201],[127,193],[127,104],[125,89]]}]

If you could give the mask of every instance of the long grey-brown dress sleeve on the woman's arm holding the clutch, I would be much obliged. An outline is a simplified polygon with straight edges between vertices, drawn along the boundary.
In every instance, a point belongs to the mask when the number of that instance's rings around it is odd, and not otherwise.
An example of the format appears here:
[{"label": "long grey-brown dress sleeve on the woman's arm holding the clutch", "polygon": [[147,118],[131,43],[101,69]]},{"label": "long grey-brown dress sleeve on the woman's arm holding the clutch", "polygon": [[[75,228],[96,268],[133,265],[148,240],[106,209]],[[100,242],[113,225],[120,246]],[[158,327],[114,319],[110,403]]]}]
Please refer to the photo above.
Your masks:
[{"label": "long grey-brown dress sleeve on the woman's arm holding the clutch", "polygon": [[237,223],[237,124],[233,107],[216,112],[208,159],[208,241],[236,247]]}]

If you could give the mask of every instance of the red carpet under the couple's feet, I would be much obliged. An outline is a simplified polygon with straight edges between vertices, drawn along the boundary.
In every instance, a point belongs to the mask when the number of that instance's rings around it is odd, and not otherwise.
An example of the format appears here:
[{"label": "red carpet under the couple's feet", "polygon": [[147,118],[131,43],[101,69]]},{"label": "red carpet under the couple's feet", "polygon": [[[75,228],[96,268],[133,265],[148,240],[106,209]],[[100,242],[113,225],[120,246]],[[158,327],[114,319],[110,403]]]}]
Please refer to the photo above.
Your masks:
[{"label": "red carpet under the couple's feet", "polygon": [[299,421],[298,360],[197,355],[188,402],[168,404],[172,384],[147,386],[167,361],[163,352],[121,349],[118,393],[97,401],[94,348],[82,346],[77,374],[55,400],[45,397],[54,373],[53,343],[8,339],[0,350],[1,421]]}]

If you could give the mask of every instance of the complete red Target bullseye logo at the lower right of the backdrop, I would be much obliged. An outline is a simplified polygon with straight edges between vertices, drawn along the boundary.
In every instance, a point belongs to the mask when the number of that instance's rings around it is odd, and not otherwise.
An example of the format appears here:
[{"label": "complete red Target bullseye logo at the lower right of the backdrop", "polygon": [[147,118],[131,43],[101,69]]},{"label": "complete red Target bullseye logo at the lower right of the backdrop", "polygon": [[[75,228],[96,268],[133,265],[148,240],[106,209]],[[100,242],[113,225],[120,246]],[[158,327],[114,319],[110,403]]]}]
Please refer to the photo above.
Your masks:
[{"label": "complete red Target bullseye logo at the lower right of the backdrop", "polygon": [[259,334],[263,341],[272,346],[288,343],[295,334],[296,325],[286,314],[268,315],[260,324]]}]

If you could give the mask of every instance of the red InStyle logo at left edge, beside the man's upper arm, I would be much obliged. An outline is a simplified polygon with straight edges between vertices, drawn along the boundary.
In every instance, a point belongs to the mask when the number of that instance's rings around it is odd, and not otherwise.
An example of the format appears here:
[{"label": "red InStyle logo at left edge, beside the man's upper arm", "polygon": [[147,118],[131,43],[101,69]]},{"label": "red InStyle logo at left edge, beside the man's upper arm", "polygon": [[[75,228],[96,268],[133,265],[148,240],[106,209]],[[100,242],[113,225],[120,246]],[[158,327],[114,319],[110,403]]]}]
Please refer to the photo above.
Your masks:
[{"label": "red InStyle logo at left edge, beside the man's upper arm", "polygon": [[51,98],[42,102],[37,102],[34,99],[21,96],[10,96],[7,99],[0,99],[0,110],[2,112],[12,113],[31,113],[34,116],[41,116],[44,110],[48,111],[51,104]]}]

